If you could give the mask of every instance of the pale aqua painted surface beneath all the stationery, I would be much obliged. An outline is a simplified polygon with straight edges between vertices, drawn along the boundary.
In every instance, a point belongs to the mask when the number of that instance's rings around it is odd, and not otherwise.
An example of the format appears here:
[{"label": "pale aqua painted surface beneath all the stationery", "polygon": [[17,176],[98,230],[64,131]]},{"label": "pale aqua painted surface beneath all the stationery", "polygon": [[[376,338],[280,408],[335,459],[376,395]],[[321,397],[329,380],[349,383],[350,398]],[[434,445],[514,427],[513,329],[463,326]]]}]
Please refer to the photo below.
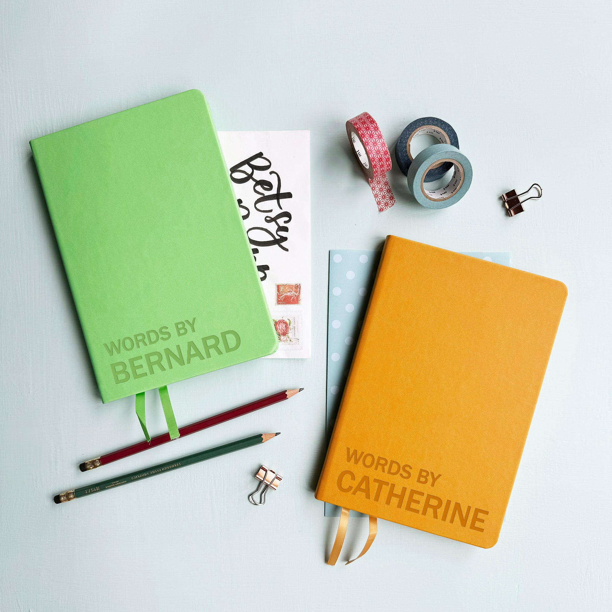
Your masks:
[{"label": "pale aqua painted surface beneath all the stationery", "polygon": [[[603,0],[0,2],[0,610],[606,610],[611,21]],[[98,397],[28,141],[190,88],[220,130],[311,130],[313,357],[176,384],[177,417],[305,391],[149,455],[261,430],[277,440],[56,507],[54,493],[92,482],[80,461],[141,431],[133,400]],[[425,210],[394,168],[398,204],[378,214],[344,127],[364,110],[390,147],[413,119],[449,121],[474,169],[468,195]],[[534,181],[542,200],[506,217],[501,193]],[[562,280],[569,299],[496,547],[381,523],[364,558],[331,568],[335,519],[313,498],[328,254],[374,250],[387,233],[510,252],[514,267]],[[159,399],[148,405],[162,431]],[[261,463],[284,479],[256,508],[246,496]],[[341,558],[360,550],[364,523]]]}]

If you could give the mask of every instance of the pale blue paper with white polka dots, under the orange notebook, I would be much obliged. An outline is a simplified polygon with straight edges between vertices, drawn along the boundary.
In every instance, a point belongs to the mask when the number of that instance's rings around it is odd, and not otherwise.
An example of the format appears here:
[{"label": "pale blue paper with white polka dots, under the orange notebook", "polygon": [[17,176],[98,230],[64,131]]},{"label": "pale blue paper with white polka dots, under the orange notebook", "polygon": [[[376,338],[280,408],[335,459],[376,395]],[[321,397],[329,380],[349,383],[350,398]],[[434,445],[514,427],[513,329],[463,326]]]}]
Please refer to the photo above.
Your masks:
[{"label": "pale blue paper with white polka dots, under the orange notebook", "polygon": [[[487,259],[502,266],[510,265],[510,253],[463,253]],[[327,306],[327,441],[340,406],[355,343],[364,321],[365,309],[380,251],[332,250],[329,252],[329,298]],[[325,504],[325,516],[337,517],[340,509]],[[360,515],[353,512],[354,515]]]}]

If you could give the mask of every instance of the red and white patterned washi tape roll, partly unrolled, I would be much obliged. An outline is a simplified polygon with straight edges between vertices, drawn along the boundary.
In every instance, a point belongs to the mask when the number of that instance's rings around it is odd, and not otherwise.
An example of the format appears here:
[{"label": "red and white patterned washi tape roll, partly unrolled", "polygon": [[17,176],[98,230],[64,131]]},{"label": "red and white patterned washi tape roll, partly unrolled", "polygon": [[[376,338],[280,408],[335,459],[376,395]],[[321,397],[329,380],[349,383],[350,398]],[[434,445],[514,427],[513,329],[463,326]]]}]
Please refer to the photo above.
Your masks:
[{"label": "red and white patterned washi tape roll, partly unrolled", "polygon": [[387,172],[391,170],[389,147],[370,113],[361,113],[346,122],[346,133],[360,168],[370,183],[379,212],[395,204]]}]

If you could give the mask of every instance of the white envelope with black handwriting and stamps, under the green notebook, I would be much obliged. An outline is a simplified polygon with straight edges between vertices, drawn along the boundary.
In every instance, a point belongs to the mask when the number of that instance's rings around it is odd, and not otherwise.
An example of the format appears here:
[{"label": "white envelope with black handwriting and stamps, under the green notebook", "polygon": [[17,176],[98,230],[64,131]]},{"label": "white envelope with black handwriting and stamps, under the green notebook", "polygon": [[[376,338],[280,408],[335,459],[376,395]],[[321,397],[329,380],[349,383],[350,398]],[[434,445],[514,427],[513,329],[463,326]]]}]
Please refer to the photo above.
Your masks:
[{"label": "white envelope with black handwriting and stamps, under the green notebook", "polygon": [[218,132],[278,334],[310,357],[310,132]]}]

